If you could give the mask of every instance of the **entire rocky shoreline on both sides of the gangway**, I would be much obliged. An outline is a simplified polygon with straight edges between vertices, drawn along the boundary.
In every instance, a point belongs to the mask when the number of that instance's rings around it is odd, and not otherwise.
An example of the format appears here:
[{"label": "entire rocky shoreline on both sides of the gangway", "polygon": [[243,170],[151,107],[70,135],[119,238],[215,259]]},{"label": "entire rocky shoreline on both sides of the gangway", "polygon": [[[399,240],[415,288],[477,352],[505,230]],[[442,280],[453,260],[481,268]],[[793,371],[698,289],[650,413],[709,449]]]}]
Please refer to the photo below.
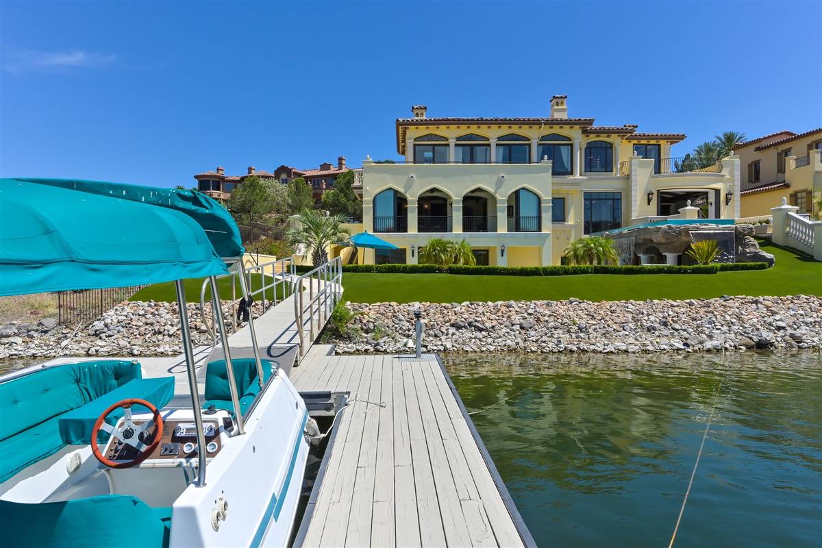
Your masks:
[{"label": "entire rocky shoreline on both sides of the gangway", "polygon": [[[354,317],[338,353],[409,352],[417,303],[349,303]],[[421,303],[426,352],[722,352],[822,348],[822,298],[722,297],[686,301]],[[254,303],[255,317],[262,303]],[[189,304],[196,345],[210,344],[205,320]],[[233,318],[224,307],[229,330]],[[177,305],[122,302],[90,325],[51,319],[0,326],[0,359],[59,356],[176,356]]]}]

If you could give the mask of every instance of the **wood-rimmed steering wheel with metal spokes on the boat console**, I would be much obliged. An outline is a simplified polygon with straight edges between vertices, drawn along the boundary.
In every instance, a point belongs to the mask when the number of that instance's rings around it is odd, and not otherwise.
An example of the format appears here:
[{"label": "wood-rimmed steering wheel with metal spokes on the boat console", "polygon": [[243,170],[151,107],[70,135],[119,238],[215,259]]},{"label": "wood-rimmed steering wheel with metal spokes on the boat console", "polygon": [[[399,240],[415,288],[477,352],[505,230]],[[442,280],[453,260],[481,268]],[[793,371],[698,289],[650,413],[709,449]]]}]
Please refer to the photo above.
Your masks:
[{"label": "wood-rimmed steering wheel with metal spokes on the boat console", "polygon": [[[152,417],[150,421],[145,421],[140,426],[135,426],[132,422],[132,405],[135,404],[148,408],[149,411],[154,414],[154,417]],[[105,421],[106,417],[109,416],[109,413],[118,408],[122,408],[123,418],[125,419],[120,428],[117,426],[111,426]],[[155,426],[155,431],[152,435],[151,443],[145,444],[141,438],[144,437],[145,432],[148,431],[152,425]],[[108,432],[115,439],[121,441],[123,444],[131,446],[140,453],[131,460],[113,461],[106,458],[97,445],[97,435],[101,430]],[[130,468],[142,463],[146,458],[149,458],[150,455],[154,453],[155,449],[157,449],[157,446],[162,438],[163,417],[160,416],[159,411],[155,408],[154,404],[140,398],[123,399],[118,403],[114,403],[110,408],[106,409],[103,414],[97,417],[95,426],[91,428],[91,453],[95,455],[100,463],[103,463],[107,467]]]}]

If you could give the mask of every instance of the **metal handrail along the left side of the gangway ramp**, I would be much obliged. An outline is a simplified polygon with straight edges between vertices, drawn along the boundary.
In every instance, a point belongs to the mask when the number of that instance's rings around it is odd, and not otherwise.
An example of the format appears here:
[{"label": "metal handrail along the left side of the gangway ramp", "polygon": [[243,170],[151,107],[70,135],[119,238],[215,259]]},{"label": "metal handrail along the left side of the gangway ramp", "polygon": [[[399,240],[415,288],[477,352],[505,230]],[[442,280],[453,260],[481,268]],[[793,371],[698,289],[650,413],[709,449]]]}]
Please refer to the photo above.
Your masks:
[{"label": "metal handrail along the left side of the gangway ramp", "polygon": [[[238,268],[242,266],[242,262]],[[297,277],[297,265],[294,263],[293,257],[286,257],[279,260],[270,260],[259,265],[247,265],[242,268],[246,274],[246,281],[248,287],[248,296],[255,301],[262,302],[262,310],[265,312],[269,306],[276,306],[278,302],[284,301],[291,294],[293,288],[293,279]],[[239,270],[229,272],[229,274],[222,274],[217,276],[217,281],[220,279],[230,279],[231,284],[231,332],[236,333],[238,329],[237,309],[238,299],[242,294],[238,294],[238,276]],[[256,275],[255,275],[256,274]],[[217,343],[215,330],[216,306],[211,302],[211,322],[205,320],[205,292],[209,288],[209,279],[204,279],[200,288],[200,313],[202,315],[203,324],[211,336],[211,341]]]}]

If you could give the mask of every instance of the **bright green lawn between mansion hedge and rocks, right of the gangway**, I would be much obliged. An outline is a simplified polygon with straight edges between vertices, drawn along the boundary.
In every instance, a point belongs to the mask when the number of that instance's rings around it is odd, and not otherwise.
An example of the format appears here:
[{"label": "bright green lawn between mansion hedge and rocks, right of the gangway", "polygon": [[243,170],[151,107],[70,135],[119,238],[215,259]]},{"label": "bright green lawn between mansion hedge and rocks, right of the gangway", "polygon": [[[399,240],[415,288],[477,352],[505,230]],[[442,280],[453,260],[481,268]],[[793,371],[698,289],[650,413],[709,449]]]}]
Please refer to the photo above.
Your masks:
[{"label": "bright green lawn between mansion hedge and rocks, right of the gangway", "polygon": [[580,274],[575,276],[468,276],[456,274],[343,274],[351,302],[589,301],[689,299],[722,295],[820,295],[822,263],[760,242],[776,256],[767,270],[718,274]]}]

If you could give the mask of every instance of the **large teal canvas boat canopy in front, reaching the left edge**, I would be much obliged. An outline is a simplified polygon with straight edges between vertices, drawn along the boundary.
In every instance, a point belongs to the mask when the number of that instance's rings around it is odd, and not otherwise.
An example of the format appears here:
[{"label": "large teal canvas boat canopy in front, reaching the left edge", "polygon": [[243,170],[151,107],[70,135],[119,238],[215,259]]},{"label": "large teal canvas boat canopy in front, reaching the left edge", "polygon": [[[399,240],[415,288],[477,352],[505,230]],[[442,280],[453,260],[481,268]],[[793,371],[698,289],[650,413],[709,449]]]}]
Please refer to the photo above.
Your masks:
[{"label": "large teal canvas boat canopy in front, reaching the left edge", "polygon": [[[75,183],[96,190],[75,189]],[[116,288],[228,272],[201,223],[182,210],[196,208],[196,193],[188,192],[193,199],[184,205],[181,192],[178,209],[168,189],[143,187],[141,200],[136,191],[141,187],[122,185],[126,195],[117,196],[120,187],[0,179],[0,295]],[[163,194],[152,195],[155,190]],[[207,217],[205,211],[200,217]],[[239,234],[235,242],[242,250]]]}]

